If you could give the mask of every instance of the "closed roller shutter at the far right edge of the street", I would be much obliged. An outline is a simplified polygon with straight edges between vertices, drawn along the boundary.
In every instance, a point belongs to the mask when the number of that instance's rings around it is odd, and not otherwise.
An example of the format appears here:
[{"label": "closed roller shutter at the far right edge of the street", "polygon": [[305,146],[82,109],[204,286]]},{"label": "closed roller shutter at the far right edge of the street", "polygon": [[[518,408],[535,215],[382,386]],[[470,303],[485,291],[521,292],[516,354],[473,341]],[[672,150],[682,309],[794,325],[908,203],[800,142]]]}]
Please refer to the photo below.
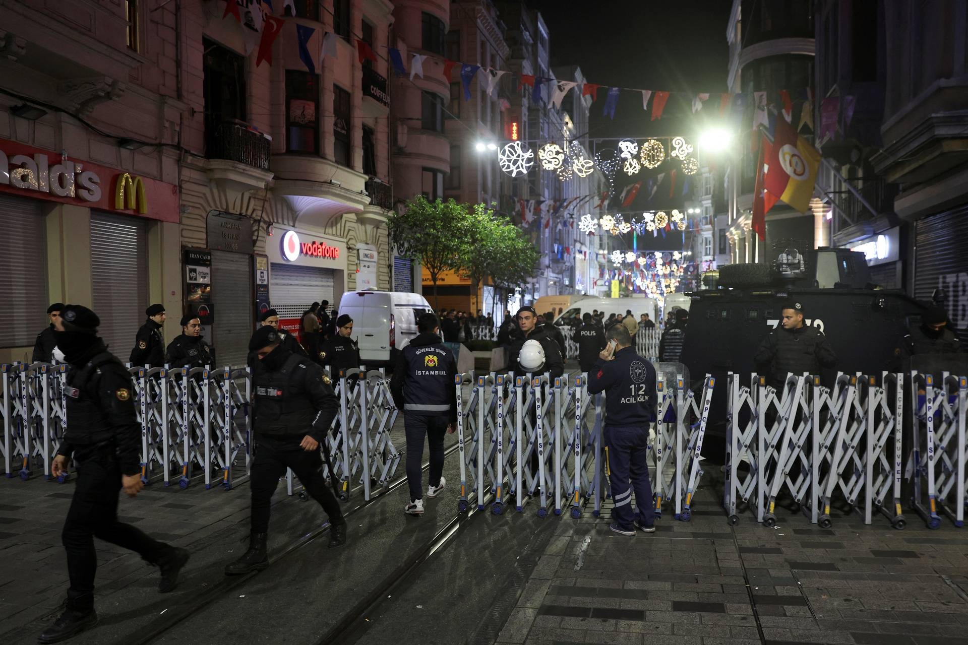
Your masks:
[{"label": "closed roller shutter at the far right edge of the street", "polygon": [[953,325],[968,328],[968,205],[918,220],[915,244],[914,297],[944,289]]}]

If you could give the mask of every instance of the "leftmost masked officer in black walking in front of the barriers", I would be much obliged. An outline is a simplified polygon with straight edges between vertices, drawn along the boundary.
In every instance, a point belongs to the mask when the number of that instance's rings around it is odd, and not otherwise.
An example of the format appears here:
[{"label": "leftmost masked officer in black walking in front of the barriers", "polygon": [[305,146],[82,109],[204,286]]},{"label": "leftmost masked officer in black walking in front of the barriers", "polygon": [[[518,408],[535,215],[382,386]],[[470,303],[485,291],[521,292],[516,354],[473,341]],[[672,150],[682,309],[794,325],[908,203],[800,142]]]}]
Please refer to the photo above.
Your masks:
[{"label": "leftmost masked officer in black walking in front of the barriers", "polygon": [[71,586],[67,605],[40,636],[55,643],[93,627],[94,575],[98,556],[94,538],[136,551],[161,569],[158,590],[175,588],[188,562],[183,548],[157,542],[136,527],[118,521],[118,491],[129,497],[141,490],[141,426],[135,413],[131,376],[97,336],[101,320],[89,308],[68,305],[54,323],[57,346],[70,365],[67,372],[67,430],[51,464],[54,477],[67,472],[73,457],[77,483],[61,539],[67,551]]}]

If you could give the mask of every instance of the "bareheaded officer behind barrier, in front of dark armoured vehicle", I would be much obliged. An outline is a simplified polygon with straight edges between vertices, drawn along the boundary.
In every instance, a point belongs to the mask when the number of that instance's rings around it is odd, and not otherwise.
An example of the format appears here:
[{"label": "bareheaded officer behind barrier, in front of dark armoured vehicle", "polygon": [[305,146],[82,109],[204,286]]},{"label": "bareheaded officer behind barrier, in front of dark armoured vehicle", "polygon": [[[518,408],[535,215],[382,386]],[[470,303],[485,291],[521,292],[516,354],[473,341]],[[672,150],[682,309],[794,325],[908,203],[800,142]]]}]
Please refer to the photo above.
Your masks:
[{"label": "bareheaded officer behind barrier, in front of dark armoured vehicle", "polygon": [[800,303],[784,305],[781,316],[780,329],[764,338],[753,357],[757,370],[769,375],[771,386],[782,387],[788,372],[819,374],[821,367],[836,366],[837,356],[824,333],[803,324]]}]

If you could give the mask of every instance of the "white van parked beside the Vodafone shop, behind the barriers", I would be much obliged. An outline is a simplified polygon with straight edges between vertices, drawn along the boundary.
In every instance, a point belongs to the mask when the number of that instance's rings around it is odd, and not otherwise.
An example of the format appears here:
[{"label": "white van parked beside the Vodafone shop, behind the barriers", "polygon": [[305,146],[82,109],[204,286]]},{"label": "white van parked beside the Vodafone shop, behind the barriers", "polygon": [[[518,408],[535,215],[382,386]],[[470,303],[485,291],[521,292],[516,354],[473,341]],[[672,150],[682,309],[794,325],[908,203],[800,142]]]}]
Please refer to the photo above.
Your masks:
[{"label": "white van parked beside the Vodafone shop, behind the barriers", "polygon": [[353,319],[352,338],[360,347],[360,363],[389,366],[417,336],[417,318],[433,309],[419,293],[404,291],[348,291],[340,299],[340,315]]}]

